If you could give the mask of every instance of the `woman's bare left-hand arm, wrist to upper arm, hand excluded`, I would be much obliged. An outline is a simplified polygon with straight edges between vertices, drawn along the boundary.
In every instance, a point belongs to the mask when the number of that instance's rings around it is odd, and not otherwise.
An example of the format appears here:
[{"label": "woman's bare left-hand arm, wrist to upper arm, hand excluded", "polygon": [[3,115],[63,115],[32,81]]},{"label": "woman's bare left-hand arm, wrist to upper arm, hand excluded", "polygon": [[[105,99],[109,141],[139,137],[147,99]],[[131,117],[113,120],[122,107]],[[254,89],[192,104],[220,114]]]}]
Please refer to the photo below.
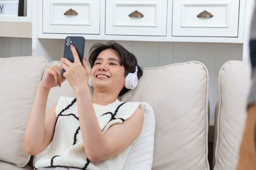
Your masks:
[{"label": "woman's bare left-hand arm, wrist to upper arm, hand excluded", "polygon": [[[42,152],[51,143],[54,124],[56,122],[55,103],[45,115],[49,89],[41,83],[38,85],[35,101],[29,114],[23,138],[23,148],[29,155]],[[45,121],[46,120],[46,121]]]}]

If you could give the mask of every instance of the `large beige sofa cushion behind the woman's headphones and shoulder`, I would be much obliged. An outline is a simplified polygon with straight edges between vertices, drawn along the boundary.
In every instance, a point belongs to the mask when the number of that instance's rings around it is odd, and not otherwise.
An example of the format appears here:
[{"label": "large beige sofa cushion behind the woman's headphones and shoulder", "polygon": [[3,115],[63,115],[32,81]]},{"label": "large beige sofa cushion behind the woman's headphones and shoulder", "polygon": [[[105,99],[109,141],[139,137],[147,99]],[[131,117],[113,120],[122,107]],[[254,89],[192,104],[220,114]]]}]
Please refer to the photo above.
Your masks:
[{"label": "large beige sofa cushion behind the woman's headphones and shoulder", "polygon": [[208,72],[201,62],[145,68],[122,101],[145,101],[156,117],[152,169],[209,169]]}]

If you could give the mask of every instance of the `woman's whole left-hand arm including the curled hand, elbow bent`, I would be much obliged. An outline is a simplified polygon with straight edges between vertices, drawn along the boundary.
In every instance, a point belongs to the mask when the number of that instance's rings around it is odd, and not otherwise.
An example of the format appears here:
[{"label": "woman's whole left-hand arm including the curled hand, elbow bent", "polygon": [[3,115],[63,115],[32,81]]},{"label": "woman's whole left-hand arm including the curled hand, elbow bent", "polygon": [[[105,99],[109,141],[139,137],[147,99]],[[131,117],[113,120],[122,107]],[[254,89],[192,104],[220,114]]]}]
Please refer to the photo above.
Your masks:
[{"label": "woman's whole left-hand arm including the curled hand, elbow bent", "polygon": [[51,66],[45,71],[39,83],[36,96],[31,108],[26,131],[23,138],[23,149],[29,155],[42,152],[51,143],[54,125],[56,122],[55,103],[45,115],[47,97],[52,87],[61,86],[65,81],[61,78],[61,67]]}]

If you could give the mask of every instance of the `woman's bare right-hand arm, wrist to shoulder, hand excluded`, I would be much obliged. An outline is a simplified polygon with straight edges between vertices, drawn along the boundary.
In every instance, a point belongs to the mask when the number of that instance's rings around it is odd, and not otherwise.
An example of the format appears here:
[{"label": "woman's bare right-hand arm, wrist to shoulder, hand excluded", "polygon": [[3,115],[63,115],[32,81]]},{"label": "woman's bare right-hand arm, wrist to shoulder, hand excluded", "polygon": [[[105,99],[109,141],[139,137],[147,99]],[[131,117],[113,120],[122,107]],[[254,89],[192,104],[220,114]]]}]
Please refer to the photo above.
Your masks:
[{"label": "woman's bare right-hand arm, wrist to shoulder, hand excluded", "polygon": [[77,111],[86,155],[92,162],[118,155],[140,135],[144,121],[143,111],[138,108],[125,122],[112,125],[102,134],[90,92],[86,87],[84,89],[84,92],[77,92]]}]

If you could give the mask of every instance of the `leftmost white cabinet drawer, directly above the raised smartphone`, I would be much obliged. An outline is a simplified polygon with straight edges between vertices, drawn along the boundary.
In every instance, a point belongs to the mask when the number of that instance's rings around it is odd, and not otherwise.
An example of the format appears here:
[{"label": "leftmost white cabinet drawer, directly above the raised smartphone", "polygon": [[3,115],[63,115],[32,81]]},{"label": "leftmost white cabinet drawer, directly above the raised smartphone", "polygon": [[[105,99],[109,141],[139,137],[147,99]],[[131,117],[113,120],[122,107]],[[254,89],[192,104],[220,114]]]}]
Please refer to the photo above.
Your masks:
[{"label": "leftmost white cabinet drawer, directly above the raised smartphone", "polygon": [[99,34],[100,0],[43,1],[43,32]]}]

